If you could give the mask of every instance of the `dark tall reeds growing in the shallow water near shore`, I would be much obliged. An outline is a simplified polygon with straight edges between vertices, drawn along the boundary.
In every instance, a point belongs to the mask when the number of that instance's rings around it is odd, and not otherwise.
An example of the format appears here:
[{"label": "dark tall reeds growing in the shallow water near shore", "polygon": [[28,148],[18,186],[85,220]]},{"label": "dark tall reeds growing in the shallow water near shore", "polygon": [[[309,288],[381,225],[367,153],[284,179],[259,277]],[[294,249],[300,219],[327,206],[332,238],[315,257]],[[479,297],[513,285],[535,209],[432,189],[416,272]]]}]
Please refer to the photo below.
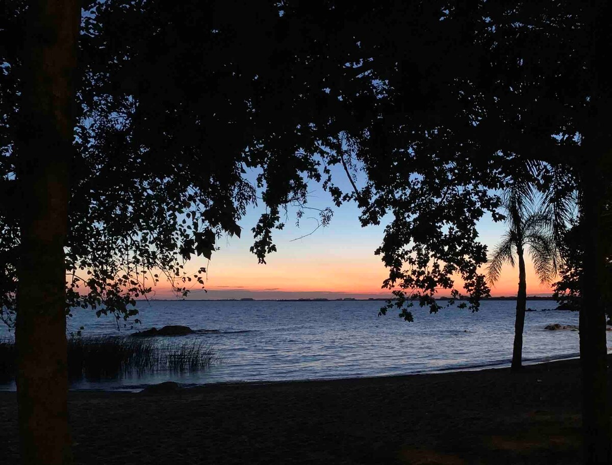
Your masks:
[{"label": "dark tall reeds growing in the shallow water near shore", "polygon": [[[218,361],[202,341],[163,341],[113,336],[68,339],[70,379],[119,378],[156,371],[198,371]],[[0,378],[15,376],[15,344],[0,341]]]}]

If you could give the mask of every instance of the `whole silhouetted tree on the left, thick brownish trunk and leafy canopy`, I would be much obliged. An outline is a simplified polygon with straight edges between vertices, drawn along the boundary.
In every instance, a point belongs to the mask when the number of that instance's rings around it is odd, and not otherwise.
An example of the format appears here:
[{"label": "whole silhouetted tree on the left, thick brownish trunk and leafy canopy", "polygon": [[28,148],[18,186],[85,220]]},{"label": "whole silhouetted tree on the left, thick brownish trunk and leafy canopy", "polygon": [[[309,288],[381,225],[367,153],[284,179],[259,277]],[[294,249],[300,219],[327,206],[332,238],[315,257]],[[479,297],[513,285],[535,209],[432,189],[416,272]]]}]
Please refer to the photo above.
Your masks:
[{"label": "whole silhouetted tree on the left, thick brownish trunk and leafy canopy", "polygon": [[132,316],[159,273],[182,293],[203,284],[185,262],[239,235],[258,189],[264,262],[283,205],[321,177],[313,135],[338,100],[309,61],[317,29],[296,32],[276,2],[2,7],[1,311],[17,315],[21,456],[69,463],[67,312]]}]

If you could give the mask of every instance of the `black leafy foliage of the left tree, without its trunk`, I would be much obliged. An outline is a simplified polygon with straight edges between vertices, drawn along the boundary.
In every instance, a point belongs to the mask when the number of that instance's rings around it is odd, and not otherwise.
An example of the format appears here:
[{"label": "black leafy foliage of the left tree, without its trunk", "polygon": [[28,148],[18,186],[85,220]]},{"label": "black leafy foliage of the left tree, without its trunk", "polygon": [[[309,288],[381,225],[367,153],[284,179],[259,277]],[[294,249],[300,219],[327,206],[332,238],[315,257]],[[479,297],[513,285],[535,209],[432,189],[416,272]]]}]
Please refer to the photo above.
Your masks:
[{"label": "black leafy foliage of the left tree, without its trunk", "polygon": [[[307,181],[321,179],[318,134],[327,134],[329,111],[320,110],[338,102],[311,66],[320,31],[296,34],[300,21],[274,2],[90,4],[79,44],[67,311],[127,318],[160,279],[183,296],[203,287],[205,268],[185,263],[210,259],[220,235],[240,235],[237,221],[258,201],[265,213],[252,251],[262,263],[275,251],[283,206],[304,206]],[[4,61],[4,78],[18,86],[18,50]],[[9,97],[2,175],[15,184],[18,105]],[[247,170],[259,173],[255,184]],[[322,211],[322,223],[331,215]],[[0,217],[0,226],[2,317],[12,322],[17,217]]]}]

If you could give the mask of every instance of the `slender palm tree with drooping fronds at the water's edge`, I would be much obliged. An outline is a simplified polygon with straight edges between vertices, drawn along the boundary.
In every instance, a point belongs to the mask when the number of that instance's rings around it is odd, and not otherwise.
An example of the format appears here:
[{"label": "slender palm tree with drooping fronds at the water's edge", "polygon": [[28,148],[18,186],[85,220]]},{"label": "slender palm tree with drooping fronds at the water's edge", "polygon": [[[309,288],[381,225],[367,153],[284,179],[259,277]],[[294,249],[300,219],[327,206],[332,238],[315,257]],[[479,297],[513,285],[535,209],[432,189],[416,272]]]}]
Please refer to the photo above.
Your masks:
[{"label": "slender palm tree with drooping fronds at the water's edge", "polygon": [[546,210],[534,211],[535,192],[531,184],[515,183],[502,195],[508,230],[493,249],[488,264],[488,281],[494,285],[504,263],[512,267],[518,261],[517,317],[514,323],[512,369],[521,368],[523,328],[527,301],[525,278],[526,251],[531,255],[540,282],[550,282],[557,271],[557,251],[554,241],[553,218]]}]

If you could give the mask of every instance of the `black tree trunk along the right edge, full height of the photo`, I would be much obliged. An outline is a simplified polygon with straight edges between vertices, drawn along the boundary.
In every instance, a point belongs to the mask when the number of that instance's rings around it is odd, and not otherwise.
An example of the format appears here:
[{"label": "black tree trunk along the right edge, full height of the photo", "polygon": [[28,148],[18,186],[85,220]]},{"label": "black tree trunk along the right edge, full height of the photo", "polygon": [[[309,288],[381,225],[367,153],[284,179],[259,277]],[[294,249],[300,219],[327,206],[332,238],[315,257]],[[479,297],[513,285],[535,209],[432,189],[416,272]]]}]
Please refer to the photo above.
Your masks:
[{"label": "black tree trunk along the right edge, full height of the photo", "polygon": [[[586,27],[591,34],[591,50],[586,55],[592,66],[591,95],[594,105],[581,131],[582,154],[577,160],[581,198],[580,227],[583,238],[583,275],[581,279],[580,361],[583,384],[584,463],[610,463],[610,405],[606,318],[603,301],[605,285],[605,247],[602,230],[604,195],[610,187],[612,165],[610,116],[610,15],[612,4],[599,0],[586,2],[591,17]],[[588,62],[589,62],[588,61]],[[609,191],[608,191],[609,192]],[[609,238],[608,238],[609,239]]]}]

